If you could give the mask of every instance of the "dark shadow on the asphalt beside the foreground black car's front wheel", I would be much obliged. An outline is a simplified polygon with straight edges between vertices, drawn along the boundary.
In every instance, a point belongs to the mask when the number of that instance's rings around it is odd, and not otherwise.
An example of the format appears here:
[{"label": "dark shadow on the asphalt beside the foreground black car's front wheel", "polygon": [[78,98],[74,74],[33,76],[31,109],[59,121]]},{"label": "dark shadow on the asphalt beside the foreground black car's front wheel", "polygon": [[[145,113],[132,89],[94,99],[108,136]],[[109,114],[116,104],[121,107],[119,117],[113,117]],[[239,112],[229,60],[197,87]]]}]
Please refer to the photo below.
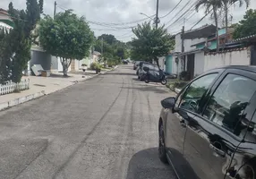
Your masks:
[{"label": "dark shadow on the asphalt beside the foreground black car's front wheel", "polygon": [[158,159],[158,148],[144,149],[129,162],[126,179],[176,179],[171,166]]}]

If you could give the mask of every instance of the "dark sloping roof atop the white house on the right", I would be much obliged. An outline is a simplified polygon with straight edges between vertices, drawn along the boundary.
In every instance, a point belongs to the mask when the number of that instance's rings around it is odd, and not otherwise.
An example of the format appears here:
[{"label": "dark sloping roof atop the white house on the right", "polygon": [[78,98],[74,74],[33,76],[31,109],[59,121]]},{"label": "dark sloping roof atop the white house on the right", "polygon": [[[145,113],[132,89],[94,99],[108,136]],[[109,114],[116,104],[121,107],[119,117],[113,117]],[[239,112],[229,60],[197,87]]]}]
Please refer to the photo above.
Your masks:
[{"label": "dark sloping roof atop the white house on the right", "polygon": [[184,39],[193,39],[193,38],[208,38],[210,35],[216,32],[216,27],[214,25],[205,25],[201,28],[195,30],[185,31],[183,34]]}]

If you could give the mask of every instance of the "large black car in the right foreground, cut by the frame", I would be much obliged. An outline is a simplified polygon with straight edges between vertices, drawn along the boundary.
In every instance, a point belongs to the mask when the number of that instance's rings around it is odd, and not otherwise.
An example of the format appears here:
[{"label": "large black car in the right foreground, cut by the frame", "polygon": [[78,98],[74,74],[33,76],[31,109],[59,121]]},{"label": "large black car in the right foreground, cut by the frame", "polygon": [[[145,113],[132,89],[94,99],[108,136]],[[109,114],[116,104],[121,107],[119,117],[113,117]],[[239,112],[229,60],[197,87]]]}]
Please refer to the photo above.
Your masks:
[{"label": "large black car in the right foreground, cut by the frame", "polygon": [[180,179],[256,179],[256,67],[228,66],[161,101],[158,157]]}]

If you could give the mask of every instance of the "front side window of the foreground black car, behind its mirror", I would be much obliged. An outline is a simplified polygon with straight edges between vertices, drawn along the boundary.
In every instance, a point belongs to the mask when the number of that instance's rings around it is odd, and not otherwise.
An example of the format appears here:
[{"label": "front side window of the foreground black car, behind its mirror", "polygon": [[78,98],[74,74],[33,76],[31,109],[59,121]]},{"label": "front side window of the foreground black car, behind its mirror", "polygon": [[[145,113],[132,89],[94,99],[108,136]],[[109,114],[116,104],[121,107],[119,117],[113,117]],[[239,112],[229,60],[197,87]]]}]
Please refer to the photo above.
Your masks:
[{"label": "front side window of the foreground black car, behind its mirror", "polygon": [[179,107],[197,113],[201,98],[205,92],[209,90],[210,84],[217,76],[218,73],[210,73],[192,81],[192,83],[183,90],[183,94],[178,98]]}]

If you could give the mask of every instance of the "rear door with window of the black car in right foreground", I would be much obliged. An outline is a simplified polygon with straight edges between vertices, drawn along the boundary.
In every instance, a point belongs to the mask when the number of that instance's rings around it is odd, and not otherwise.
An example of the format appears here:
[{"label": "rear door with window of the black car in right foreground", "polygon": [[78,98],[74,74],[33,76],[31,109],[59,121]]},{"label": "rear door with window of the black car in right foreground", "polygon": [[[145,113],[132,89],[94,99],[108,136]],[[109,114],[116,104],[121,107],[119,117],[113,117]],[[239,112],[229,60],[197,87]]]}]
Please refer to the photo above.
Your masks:
[{"label": "rear door with window of the black car in right foreground", "polygon": [[231,172],[235,149],[252,117],[251,99],[256,91],[253,72],[226,70],[214,84],[201,112],[186,121],[183,156],[198,178],[220,179]]}]

